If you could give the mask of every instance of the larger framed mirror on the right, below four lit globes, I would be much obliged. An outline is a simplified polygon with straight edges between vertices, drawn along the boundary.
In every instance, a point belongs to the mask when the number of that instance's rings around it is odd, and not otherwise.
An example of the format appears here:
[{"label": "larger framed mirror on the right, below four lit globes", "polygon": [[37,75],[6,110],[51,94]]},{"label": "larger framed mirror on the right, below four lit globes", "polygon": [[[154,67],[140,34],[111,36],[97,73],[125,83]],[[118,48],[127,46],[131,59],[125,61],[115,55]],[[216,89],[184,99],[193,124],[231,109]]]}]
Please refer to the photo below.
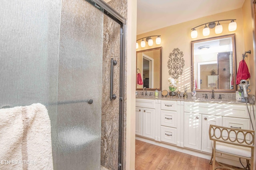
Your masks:
[{"label": "larger framed mirror on the right, below four lit globes", "polygon": [[191,41],[192,87],[196,91],[236,91],[235,34]]}]

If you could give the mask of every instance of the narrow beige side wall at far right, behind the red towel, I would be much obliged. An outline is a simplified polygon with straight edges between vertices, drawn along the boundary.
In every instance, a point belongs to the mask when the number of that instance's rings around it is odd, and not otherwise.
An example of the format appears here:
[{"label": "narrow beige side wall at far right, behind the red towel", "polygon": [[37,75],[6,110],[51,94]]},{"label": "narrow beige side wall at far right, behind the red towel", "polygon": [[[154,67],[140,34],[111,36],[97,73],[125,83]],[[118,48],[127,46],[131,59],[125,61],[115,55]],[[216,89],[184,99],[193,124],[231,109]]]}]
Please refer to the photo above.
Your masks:
[{"label": "narrow beige side wall at far right, behind the red towel", "polygon": [[249,94],[255,95],[255,74],[254,74],[254,48],[253,48],[253,22],[252,22],[252,10],[251,10],[250,0],[245,0],[242,7],[242,14],[244,19],[244,51],[251,50],[251,54],[247,54],[248,57],[245,57],[246,64],[248,66],[251,78],[250,78],[250,89]]}]

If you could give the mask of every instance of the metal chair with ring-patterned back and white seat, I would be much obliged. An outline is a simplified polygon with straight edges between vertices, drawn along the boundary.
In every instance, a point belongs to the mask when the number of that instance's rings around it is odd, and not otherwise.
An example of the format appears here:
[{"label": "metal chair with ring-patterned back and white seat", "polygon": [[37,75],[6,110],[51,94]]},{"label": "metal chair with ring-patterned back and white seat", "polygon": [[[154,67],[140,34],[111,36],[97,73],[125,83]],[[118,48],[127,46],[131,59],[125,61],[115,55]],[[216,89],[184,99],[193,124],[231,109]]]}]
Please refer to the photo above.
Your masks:
[{"label": "metal chair with ring-patterned back and white seat", "polygon": [[[212,170],[216,170],[218,168],[238,170],[237,168],[230,168],[221,164],[220,162],[217,162],[216,152],[234,155],[239,158],[245,158],[247,166],[244,168],[244,170],[254,170],[254,131],[210,125],[209,137],[213,143],[212,158],[210,159]],[[215,162],[217,162],[220,166],[215,168]]]}]

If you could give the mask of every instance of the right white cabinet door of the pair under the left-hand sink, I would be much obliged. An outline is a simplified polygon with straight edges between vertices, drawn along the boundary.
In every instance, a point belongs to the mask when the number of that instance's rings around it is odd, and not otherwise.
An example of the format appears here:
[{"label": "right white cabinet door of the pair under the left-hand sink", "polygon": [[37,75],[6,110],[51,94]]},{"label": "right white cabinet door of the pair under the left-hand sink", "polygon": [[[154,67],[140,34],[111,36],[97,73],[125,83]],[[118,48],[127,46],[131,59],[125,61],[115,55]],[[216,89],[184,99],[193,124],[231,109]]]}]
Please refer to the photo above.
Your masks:
[{"label": "right white cabinet door of the pair under the left-hand sink", "polygon": [[142,135],[150,139],[155,139],[155,109],[143,108]]}]

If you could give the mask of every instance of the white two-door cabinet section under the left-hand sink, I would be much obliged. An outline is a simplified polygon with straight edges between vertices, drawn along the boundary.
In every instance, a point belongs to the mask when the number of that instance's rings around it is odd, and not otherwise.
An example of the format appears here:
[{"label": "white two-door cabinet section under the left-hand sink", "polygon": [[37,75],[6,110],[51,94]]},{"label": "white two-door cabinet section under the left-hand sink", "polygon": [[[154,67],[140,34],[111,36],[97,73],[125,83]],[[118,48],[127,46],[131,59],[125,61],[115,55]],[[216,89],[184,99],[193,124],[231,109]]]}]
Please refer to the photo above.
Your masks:
[{"label": "white two-door cabinet section under the left-hand sink", "polygon": [[155,100],[136,99],[135,134],[155,139]]}]

